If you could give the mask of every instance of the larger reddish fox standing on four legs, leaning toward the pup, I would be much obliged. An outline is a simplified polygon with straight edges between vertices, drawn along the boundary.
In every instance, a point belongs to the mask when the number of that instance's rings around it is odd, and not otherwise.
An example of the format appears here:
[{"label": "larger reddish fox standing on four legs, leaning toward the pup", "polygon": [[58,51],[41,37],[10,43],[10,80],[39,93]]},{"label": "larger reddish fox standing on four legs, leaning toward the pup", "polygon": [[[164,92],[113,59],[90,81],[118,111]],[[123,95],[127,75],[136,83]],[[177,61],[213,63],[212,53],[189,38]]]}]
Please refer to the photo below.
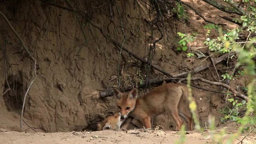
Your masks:
[{"label": "larger reddish fox standing on four legs, leaning toward the pup", "polygon": [[[131,116],[143,123],[145,128],[151,128],[150,120],[167,112],[168,116],[176,122],[175,131],[182,126],[182,117],[192,131],[192,114],[185,108],[189,107],[188,88],[175,83],[163,83],[161,86],[151,89],[147,94],[138,98],[137,89],[128,93],[122,93],[114,88],[113,93],[116,105],[121,113],[121,120]],[[194,99],[194,98],[193,98]]]}]

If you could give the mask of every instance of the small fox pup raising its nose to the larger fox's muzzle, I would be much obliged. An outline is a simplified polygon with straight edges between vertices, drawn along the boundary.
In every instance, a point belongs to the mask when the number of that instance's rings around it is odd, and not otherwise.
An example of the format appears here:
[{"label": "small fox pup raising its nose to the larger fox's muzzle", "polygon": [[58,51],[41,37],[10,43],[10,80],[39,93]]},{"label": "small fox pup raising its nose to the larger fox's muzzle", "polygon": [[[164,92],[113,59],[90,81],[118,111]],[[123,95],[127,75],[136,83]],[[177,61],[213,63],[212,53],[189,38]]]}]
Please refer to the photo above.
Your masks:
[{"label": "small fox pup raising its nose to the larger fox's muzzle", "polygon": [[121,113],[116,113],[113,116],[109,116],[104,119],[102,122],[93,123],[89,125],[86,130],[89,131],[103,131],[111,129],[114,131],[119,131],[122,125],[123,120],[121,120]]}]

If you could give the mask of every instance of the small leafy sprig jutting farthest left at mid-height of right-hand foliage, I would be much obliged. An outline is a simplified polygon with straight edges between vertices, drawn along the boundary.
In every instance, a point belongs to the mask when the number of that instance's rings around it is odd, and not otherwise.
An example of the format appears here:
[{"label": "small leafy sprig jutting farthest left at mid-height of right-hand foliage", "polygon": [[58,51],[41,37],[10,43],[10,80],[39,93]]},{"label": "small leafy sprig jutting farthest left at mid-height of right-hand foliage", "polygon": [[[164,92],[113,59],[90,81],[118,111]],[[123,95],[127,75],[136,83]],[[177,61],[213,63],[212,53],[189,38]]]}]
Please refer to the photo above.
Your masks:
[{"label": "small leafy sprig jutting farthest left at mid-height of right-hand foliage", "polygon": [[[189,42],[193,42],[196,37],[194,36],[194,34],[192,35],[188,35],[188,34],[183,34],[183,33],[177,33],[180,37],[180,41],[179,41],[179,47],[177,48],[177,50],[183,50],[183,51],[187,51],[188,49],[188,44]],[[190,56],[193,56],[192,54],[189,54]],[[189,56],[188,55],[188,56]]]}]

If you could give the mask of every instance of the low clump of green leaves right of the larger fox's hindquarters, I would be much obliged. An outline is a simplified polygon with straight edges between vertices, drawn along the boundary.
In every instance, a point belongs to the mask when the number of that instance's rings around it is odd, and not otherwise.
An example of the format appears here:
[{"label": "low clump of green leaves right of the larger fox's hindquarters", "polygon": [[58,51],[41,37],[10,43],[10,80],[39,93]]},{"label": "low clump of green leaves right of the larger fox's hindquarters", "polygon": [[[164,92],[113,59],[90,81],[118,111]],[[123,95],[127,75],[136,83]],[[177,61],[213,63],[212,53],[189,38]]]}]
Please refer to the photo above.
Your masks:
[{"label": "low clump of green leaves right of the larger fox's hindquarters", "polygon": [[246,110],[246,101],[243,100],[238,102],[238,100],[235,100],[234,98],[229,98],[229,102],[232,103],[232,108],[226,106],[225,108],[221,109],[220,112],[224,115],[220,121],[226,122],[227,120],[239,122],[240,117],[243,116],[241,112],[244,112]]}]

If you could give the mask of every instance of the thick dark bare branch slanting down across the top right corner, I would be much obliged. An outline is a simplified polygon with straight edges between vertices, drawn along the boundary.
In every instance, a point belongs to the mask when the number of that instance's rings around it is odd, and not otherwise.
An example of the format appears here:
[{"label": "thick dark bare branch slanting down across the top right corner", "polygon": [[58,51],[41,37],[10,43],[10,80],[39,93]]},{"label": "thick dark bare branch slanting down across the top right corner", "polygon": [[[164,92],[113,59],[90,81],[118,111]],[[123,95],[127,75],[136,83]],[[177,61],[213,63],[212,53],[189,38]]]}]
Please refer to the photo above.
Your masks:
[{"label": "thick dark bare branch slanting down across the top right corner", "polygon": [[211,4],[212,6],[216,7],[217,9],[226,12],[226,13],[235,13],[237,15],[243,15],[243,13],[240,13],[239,11],[237,11],[236,9],[229,7],[229,6],[224,6],[222,4],[220,4],[219,2],[215,1],[215,0],[203,0],[204,2]]}]

